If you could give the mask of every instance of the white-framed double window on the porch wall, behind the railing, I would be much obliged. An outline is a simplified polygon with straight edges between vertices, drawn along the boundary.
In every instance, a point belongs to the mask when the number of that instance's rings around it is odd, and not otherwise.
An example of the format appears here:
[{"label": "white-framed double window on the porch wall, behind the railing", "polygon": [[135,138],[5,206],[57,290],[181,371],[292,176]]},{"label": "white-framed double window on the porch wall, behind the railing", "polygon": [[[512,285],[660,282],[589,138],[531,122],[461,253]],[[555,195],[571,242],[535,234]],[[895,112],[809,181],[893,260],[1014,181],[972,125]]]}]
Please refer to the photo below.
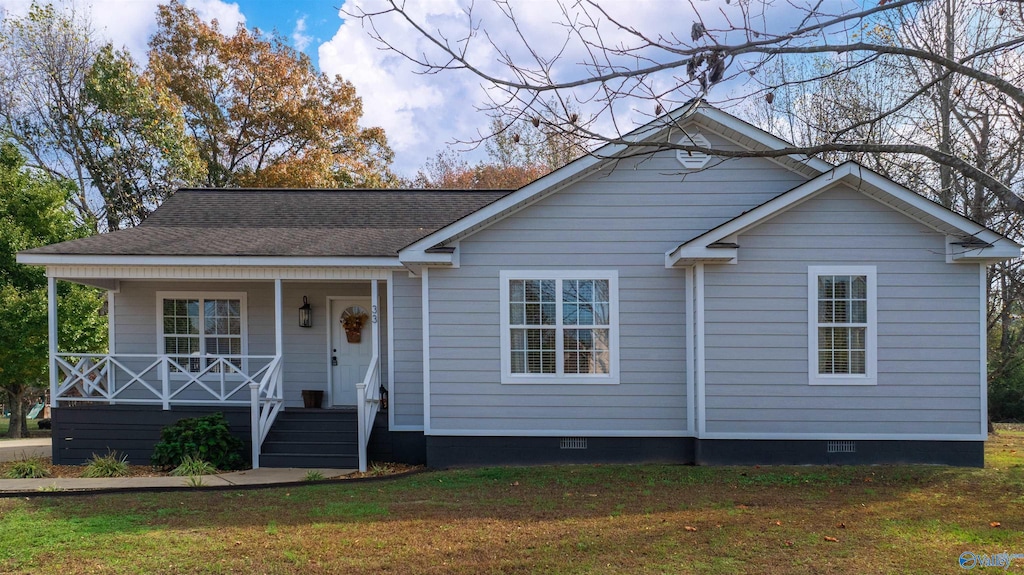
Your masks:
[{"label": "white-framed double window on the porch wall, behind the railing", "polygon": [[[245,294],[157,294],[160,351],[184,370],[203,371],[210,356],[234,356],[228,361],[243,368],[246,346]],[[180,371],[172,366],[172,371]],[[219,371],[219,366],[211,372]]]}]

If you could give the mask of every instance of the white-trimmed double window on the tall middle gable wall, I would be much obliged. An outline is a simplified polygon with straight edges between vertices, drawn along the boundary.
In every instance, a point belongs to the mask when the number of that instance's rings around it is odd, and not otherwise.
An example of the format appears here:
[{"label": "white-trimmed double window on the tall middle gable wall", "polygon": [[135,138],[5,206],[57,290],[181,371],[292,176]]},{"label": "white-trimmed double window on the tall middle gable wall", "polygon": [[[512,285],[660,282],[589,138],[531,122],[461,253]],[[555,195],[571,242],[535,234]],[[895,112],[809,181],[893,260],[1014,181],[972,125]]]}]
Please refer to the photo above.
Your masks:
[{"label": "white-trimmed double window on the tall middle gable wall", "polygon": [[502,383],[618,383],[614,271],[503,271]]}]

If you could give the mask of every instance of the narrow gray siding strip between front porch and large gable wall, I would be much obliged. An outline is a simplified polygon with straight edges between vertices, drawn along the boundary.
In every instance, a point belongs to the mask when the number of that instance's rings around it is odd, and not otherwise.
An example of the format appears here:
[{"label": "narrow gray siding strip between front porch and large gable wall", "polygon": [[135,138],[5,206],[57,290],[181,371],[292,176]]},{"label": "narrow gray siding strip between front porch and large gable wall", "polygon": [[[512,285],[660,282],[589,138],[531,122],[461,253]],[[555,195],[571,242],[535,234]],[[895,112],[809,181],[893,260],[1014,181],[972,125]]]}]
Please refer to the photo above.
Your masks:
[{"label": "narrow gray siding strip between front porch and large gable wall", "polygon": [[396,271],[394,295],[394,382],[389,397],[394,425],[423,427],[423,289],[419,277]]}]

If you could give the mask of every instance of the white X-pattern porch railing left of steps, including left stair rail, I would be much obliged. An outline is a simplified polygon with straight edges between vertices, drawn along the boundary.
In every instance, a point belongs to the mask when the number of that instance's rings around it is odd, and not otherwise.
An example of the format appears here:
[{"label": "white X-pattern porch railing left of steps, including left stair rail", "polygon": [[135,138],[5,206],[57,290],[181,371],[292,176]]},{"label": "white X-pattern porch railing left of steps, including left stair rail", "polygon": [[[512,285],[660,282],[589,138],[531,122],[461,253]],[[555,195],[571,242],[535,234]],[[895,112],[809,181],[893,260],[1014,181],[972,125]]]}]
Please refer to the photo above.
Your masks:
[{"label": "white X-pattern porch railing left of steps, including left stair rail", "polygon": [[[59,402],[161,405],[249,405],[253,468],[284,405],[281,356],[57,353],[51,405]],[[198,363],[193,363],[198,362]],[[189,371],[189,368],[197,368]],[[246,393],[246,392],[249,393]]]}]

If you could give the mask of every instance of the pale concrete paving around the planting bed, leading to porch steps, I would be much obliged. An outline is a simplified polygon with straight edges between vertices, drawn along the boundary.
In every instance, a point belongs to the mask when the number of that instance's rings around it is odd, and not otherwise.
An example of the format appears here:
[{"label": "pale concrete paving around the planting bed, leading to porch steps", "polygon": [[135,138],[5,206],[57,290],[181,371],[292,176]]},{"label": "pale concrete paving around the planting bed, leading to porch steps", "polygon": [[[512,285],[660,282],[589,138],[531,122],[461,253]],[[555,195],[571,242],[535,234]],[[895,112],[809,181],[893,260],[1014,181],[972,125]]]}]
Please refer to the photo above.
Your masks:
[{"label": "pale concrete paving around the planting bed, leading to porch steps", "polygon": [[[12,461],[29,457],[49,457],[49,438],[11,439],[0,441],[0,461]],[[273,485],[305,481],[309,472],[319,472],[325,479],[334,479],[354,473],[355,470],[333,469],[271,469],[260,468],[244,472],[218,475],[204,475],[196,486],[187,477],[116,477],[104,479],[42,478],[42,479],[0,479],[0,493],[26,493],[43,490],[88,491],[116,489],[162,489],[168,487],[227,487],[231,485]]]}]

